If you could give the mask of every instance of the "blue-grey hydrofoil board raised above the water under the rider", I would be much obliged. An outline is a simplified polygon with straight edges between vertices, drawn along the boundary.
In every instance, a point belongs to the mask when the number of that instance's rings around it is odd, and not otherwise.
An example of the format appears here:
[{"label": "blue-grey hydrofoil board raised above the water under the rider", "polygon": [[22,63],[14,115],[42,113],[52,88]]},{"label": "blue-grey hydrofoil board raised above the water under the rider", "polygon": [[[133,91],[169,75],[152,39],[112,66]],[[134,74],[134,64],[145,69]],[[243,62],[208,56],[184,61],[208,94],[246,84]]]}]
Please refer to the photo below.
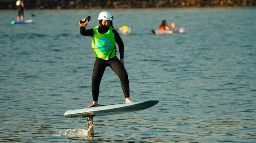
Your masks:
[{"label": "blue-grey hydrofoil board raised above the water under the rider", "polygon": [[68,110],[65,112],[65,117],[88,117],[90,115],[95,116],[104,116],[104,115],[112,115],[126,112],[134,112],[139,110],[144,110],[149,107],[156,105],[158,100],[148,100],[141,102],[132,102],[132,103],[120,103],[113,105],[104,105],[98,107],[90,107],[83,109],[74,109]]}]

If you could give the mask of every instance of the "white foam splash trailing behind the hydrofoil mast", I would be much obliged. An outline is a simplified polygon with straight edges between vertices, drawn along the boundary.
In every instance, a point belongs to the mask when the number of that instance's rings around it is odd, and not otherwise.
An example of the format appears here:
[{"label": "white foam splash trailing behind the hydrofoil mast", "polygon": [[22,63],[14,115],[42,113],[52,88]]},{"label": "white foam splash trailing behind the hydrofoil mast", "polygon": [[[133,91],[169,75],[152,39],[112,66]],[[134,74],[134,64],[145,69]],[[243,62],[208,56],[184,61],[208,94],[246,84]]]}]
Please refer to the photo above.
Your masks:
[{"label": "white foam splash trailing behind the hydrofoil mast", "polygon": [[61,136],[64,135],[66,137],[84,137],[87,136],[87,130],[84,129],[60,129],[53,136]]}]

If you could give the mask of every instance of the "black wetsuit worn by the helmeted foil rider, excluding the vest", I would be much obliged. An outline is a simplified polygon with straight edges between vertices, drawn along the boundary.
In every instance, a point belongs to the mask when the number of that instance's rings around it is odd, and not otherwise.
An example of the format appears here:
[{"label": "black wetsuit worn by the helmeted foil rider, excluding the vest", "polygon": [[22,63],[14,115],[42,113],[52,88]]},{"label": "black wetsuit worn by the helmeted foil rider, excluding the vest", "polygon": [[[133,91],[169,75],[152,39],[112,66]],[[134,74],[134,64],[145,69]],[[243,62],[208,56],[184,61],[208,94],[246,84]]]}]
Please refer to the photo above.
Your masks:
[{"label": "black wetsuit worn by the helmeted foil rider, excluding the vest", "polygon": [[[99,33],[104,34],[107,31],[108,31],[108,28],[104,28],[102,26],[99,26],[98,28]],[[80,33],[81,35],[84,35],[84,36],[93,37],[93,29],[86,30],[85,27],[81,26]],[[115,42],[118,44],[120,58],[124,58],[124,43],[120,35],[116,32],[116,30],[113,30],[113,33],[115,35]],[[124,97],[125,98],[130,97],[128,74],[123,64],[121,63],[121,61],[116,56],[108,60],[96,58],[93,72],[92,72],[92,86],[91,86],[93,101],[98,101],[100,81],[107,66],[109,66],[121,80]]]}]

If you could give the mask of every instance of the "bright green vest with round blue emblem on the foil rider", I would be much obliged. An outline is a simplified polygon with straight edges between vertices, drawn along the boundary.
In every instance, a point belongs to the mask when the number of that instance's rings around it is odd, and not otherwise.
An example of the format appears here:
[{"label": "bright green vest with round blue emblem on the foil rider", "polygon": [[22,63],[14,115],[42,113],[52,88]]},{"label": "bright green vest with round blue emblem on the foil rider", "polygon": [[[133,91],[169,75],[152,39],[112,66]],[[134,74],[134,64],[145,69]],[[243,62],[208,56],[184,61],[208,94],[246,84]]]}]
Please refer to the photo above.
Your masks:
[{"label": "bright green vest with round blue emblem on the foil rider", "polygon": [[107,33],[98,32],[98,27],[93,28],[93,38],[91,47],[94,49],[95,57],[108,60],[115,56],[115,35],[113,27],[109,26]]}]

